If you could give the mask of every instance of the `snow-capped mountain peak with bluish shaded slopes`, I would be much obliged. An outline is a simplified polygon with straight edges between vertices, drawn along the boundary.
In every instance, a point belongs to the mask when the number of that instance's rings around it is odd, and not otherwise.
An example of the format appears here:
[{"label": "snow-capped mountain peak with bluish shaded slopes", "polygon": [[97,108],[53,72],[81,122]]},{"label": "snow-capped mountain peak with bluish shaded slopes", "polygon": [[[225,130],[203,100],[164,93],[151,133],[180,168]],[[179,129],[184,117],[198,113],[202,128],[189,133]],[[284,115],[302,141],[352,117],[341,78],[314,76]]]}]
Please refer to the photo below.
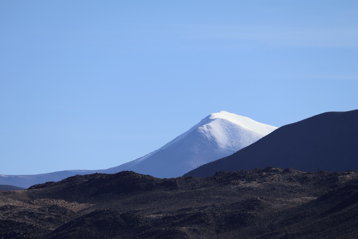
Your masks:
[{"label": "snow-capped mountain peak with bluish shaded slopes", "polygon": [[231,155],[276,128],[226,111],[212,113],[160,149],[103,172],[132,170],[158,178],[178,177]]}]

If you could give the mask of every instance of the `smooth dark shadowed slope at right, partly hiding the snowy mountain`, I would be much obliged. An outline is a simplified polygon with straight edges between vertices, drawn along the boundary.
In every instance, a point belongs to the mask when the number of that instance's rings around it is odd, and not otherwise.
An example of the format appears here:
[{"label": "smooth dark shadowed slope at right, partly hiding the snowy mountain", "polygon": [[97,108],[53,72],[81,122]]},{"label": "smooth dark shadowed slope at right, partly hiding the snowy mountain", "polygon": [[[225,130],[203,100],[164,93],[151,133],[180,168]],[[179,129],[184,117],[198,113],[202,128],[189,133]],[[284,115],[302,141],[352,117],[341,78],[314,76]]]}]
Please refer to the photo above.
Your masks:
[{"label": "smooth dark shadowed slope at right, partly hiding the snowy mountain", "polygon": [[184,176],[207,177],[217,171],[291,167],[306,172],[358,169],[358,110],[326,112],[285,125],[225,158]]}]

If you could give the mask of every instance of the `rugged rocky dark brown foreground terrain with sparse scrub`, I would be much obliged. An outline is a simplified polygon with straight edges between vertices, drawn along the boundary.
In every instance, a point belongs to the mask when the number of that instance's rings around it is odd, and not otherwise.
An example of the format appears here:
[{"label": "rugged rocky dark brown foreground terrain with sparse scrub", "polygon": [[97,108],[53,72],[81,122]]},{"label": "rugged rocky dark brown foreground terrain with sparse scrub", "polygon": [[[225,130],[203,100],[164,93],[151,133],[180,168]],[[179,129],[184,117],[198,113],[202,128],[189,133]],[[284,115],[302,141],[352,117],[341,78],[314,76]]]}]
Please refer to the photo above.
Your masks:
[{"label": "rugged rocky dark brown foreground terrain with sparse scrub", "polygon": [[0,191],[0,238],[356,238],[358,172],[77,175]]}]

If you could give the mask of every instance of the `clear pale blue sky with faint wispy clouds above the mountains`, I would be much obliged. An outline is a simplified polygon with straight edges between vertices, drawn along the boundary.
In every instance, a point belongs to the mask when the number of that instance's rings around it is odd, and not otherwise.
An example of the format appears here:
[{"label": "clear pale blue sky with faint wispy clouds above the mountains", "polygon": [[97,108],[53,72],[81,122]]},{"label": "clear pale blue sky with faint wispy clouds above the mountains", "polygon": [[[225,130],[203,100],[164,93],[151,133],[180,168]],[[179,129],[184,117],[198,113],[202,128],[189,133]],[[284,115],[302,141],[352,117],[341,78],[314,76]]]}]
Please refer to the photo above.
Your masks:
[{"label": "clear pale blue sky with faint wispy clouds above the mountains", "polygon": [[0,174],[105,169],[210,113],[358,109],[358,1],[0,1]]}]

